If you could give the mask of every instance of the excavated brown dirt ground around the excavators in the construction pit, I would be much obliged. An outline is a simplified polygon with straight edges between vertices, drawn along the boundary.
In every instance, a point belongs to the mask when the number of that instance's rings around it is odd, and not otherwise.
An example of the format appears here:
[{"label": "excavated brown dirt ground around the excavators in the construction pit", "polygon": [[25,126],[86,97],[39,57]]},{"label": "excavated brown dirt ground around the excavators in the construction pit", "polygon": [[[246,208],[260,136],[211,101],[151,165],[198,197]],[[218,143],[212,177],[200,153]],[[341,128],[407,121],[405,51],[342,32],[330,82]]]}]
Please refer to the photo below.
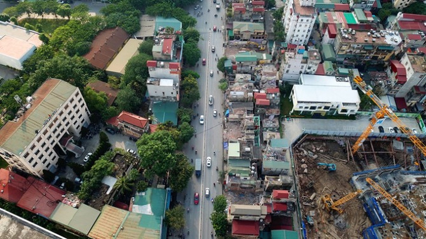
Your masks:
[{"label": "excavated brown dirt ground around the excavators in the construction pit", "polygon": [[[357,170],[352,160],[348,160],[345,142],[307,139],[294,149],[294,159],[302,214],[305,219],[307,215],[314,219],[313,226],[307,223],[308,238],[362,238],[363,229],[371,222],[360,200],[355,197],[340,205],[343,214],[328,212],[321,200],[322,195],[331,194],[337,201],[354,191],[349,180]],[[336,171],[328,172],[325,166],[317,166],[317,163],[334,163]],[[316,196],[312,198],[314,193]]]}]

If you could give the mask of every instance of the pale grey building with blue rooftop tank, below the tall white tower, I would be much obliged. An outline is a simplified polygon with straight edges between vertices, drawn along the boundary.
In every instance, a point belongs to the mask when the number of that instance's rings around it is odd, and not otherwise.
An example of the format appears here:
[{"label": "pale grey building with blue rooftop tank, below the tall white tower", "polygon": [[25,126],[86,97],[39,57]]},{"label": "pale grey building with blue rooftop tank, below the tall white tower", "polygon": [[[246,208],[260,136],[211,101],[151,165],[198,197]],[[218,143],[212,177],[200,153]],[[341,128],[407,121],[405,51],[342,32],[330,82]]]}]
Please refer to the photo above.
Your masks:
[{"label": "pale grey building with blue rooftop tank, below the tall white tower", "polygon": [[281,62],[281,79],[285,82],[299,82],[300,74],[315,74],[321,62],[317,49],[305,50],[302,45],[288,48]]}]

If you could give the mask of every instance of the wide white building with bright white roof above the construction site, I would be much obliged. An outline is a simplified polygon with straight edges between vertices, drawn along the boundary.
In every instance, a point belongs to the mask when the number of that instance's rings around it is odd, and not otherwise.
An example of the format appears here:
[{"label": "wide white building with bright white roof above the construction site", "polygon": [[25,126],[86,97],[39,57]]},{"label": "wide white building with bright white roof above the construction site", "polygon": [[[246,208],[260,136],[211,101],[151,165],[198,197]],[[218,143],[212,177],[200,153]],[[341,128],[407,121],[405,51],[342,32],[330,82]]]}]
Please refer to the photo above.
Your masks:
[{"label": "wide white building with bright white roof above the construction site", "polygon": [[353,115],[360,107],[360,96],[345,77],[300,75],[290,95],[294,111],[301,114]]}]

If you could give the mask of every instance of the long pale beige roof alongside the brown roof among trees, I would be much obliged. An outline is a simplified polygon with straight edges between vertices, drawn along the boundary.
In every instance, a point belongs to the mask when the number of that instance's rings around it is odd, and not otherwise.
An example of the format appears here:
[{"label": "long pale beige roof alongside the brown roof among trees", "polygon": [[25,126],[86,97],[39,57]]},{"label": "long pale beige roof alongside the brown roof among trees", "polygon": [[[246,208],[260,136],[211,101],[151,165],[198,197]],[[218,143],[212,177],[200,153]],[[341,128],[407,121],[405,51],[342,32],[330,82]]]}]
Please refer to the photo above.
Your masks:
[{"label": "long pale beige roof alongside the brown roof among trees", "polygon": [[106,71],[124,75],[124,69],[126,68],[127,62],[130,60],[130,58],[139,53],[138,47],[142,42],[143,40],[133,38],[129,39],[129,41],[127,41],[126,45],[124,45],[117,56],[115,56],[112,62],[109,63]]}]

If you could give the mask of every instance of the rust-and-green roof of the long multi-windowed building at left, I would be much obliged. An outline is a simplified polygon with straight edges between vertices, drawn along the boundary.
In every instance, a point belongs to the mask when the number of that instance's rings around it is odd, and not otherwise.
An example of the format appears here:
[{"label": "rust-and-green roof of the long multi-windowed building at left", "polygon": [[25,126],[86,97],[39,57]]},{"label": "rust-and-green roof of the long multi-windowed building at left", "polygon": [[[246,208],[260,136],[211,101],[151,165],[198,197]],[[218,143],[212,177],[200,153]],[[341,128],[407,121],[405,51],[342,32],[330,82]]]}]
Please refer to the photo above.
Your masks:
[{"label": "rust-and-green roof of the long multi-windowed building at left", "polygon": [[32,95],[32,106],[17,119],[8,121],[1,129],[0,146],[20,155],[35,138],[35,132],[41,132],[47,120],[75,92],[77,87],[59,80],[47,79]]}]

